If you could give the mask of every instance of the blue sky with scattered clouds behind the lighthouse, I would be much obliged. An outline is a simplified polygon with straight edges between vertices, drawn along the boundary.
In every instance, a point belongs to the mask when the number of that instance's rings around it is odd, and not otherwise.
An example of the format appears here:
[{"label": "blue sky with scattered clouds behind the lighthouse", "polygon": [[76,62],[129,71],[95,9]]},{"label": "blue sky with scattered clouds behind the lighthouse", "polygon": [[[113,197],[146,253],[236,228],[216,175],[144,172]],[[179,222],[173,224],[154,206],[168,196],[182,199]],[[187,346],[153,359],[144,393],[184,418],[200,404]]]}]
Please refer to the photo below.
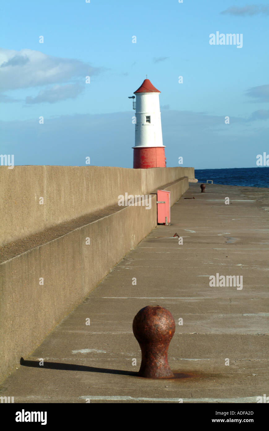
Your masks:
[{"label": "blue sky with scattered clouds behind the lighthouse", "polygon": [[[4,1],[0,13],[0,153],[15,165],[132,167],[128,96],[146,74],[167,166],[254,167],[269,153],[265,1]],[[217,31],[243,46],[210,45]]]}]

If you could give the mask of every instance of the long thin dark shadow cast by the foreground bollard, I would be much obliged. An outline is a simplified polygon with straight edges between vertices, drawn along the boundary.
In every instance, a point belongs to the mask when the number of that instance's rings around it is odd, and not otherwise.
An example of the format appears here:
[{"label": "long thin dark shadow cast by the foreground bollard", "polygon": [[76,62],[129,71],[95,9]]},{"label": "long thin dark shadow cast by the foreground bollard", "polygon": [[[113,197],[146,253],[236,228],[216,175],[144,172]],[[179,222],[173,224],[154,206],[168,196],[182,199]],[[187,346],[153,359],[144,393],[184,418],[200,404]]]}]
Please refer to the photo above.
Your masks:
[{"label": "long thin dark shadow cast by the foreground bollard", "polygon": [[88,367],[87,365],[76,365],[76,364],[63,364],[62,362],[45,362],[44,365],[39,365],[40,361],[25,361],[23,358],[20,359],[20,365],[24,367],[33,368],[47,368],[51,370],[65,370],[65,371],[88,371],[95,373],[105,373],[105,374],[121,374],[127,376],[137,376],[135,371],[125,371],[125,370],[114,370],[110,368],[97,368]]}]

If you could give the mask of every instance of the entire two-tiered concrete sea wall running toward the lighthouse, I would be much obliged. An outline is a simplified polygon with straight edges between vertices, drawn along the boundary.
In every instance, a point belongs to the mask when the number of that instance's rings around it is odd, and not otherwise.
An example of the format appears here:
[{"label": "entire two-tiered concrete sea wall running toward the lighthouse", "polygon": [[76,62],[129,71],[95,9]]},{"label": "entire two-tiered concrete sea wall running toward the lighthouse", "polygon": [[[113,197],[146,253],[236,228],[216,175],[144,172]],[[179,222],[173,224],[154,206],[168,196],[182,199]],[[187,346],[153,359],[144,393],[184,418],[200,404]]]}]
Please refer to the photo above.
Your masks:
[{"label": "entire two-tiered concrete sea wall running toward the lighthouse", "polygon": [[[188,176],[193,168],[0,167],[0,381],[157,225],[155,190],[170,190],[172,205]],[[151,208],[118,206],[125,192],[153,193]]]}]

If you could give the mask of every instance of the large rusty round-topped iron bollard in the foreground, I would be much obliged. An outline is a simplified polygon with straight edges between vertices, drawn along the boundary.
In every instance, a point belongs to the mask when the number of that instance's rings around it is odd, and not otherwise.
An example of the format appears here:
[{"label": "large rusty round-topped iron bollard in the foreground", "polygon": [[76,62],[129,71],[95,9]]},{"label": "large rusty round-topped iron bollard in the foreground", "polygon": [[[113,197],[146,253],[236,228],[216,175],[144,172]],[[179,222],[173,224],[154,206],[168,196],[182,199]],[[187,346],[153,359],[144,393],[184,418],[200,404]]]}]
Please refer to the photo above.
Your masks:
[{"label": "large rusty round-topped iron bollard in the foreground", "polygon": [[174,377],[168,364],[167,352],[175,328],[170,311],[159,305],[148,305],[137,313],[133,319],[133,333],[142,353],[138,372],[140,377]]}]

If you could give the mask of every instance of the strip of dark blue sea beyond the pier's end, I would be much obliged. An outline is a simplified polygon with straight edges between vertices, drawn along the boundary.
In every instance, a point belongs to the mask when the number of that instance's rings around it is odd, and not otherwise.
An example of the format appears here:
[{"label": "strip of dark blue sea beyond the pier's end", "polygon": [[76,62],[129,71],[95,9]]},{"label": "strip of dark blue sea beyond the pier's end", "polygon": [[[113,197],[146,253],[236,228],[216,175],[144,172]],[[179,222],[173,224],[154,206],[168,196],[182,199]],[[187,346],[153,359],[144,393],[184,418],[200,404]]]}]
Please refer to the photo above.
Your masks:
[{"label": "strip of dark blue sea beyond the pier's end", "polygon": [[199,183],[213,180],[213,184],[231,186],[269,187],[269,166],[257,168],[195,169]]}]

